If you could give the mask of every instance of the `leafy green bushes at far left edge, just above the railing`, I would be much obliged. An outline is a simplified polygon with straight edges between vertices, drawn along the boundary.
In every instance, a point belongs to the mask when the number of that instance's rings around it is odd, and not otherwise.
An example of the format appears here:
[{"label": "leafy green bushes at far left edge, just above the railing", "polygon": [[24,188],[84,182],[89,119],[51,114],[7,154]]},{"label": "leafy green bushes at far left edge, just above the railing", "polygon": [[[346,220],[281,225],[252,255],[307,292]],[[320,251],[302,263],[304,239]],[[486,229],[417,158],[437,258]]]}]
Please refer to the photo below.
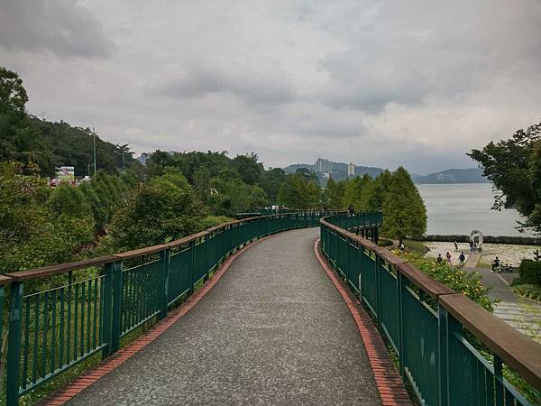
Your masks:
[{"label": "leafy green bushes at far left edge, just above the railing", "polygon": [[92,242],[89,211],[62,209],[63,201],[68,208],[81,196],[65,192],[52,195],[37,171],[25,174],[20,163],[0,163],[1,273],[69,262]]}]

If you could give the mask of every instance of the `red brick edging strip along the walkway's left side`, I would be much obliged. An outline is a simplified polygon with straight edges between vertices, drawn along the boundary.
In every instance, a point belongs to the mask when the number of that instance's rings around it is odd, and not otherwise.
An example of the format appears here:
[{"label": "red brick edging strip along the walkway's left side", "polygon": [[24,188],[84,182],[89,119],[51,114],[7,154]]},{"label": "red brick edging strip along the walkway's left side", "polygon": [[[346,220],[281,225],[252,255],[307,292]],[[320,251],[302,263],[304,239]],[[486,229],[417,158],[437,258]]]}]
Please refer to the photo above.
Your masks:
[{"label": "red brick edging strip along the walkway's left side", "polygon": [[207,281],[200,290],[189,296],[188,299],[184,303],[182,303],[182,305],[180,305],[178,309],[175,309],[172,313],[170,313],[168,317],[160,320],[146,334],[143,334],[141,337],[136,338],[132,343],[124,346],[124,348],[121,348],[120,350],[115,352],[115,354],[106,358],[102,363],[96,365],[85,374],[78,376],[78,378],[68,383],[62,389],[58,390],[57,392],[53,392],[52,394],[50,394],[50,396],[39,401],[38,405],[58,406],[64,404],[75,395],[77,395],[79,392],[84,391],[90,385],[96,383],[98,379],[102,378],[106,374],[109,374],[117,366],[124,364],[124,362],[130,359],[133,355],[141,351],[142,348],[148,346],[149,344],[151,344],[152,341],[160,337],[161,334],[163,334],[163,332],[165,332],[173,324],[175,324],[175,322],[177,322],[179,318],[184,316],[186,313],[188,313],[190,309],[196,306],[199,300],[203,299],[206,293],[215,286],[217,281],[220,280],[220,278],[224,275],[225,271],[229,269],[231,263],[234,262],[234,259],[237,256],[243,254],[243,252],[247,248],[256,245],[260,241],[265,240],[270,236],[271,235],[267,235],[263,238],[260,238],[259,240],[252,242],[249,245],[244,245],[243,248],[241,248],[236,253],[227,258],[227,260],[225,261],[225,263],[222,264],[220,269],[215,272],[213,277],[209,281]]}]

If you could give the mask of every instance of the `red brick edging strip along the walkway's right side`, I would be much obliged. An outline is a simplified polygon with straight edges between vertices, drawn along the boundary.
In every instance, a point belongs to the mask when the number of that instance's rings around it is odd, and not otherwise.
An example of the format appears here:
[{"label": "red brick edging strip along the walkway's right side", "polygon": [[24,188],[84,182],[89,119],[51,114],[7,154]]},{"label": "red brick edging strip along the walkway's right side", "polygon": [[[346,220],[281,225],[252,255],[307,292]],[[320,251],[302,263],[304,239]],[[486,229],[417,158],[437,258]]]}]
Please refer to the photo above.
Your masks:
[{"label": "red brick edging strip along the walkway's right side", "polygon": [[385,406],[391,405],[412,405],[413,403],[409,399],[408,392],[404,388],[404,384],[400,379],[400,375],[395,367],[395,364],[390,360],[389,352],[383,339],[378,332],[378,329],[374,326],[370,316],[362,308],[359,300],[355,298],[353,292],[345,285],[344,281],[340,279],[336,272],[326,262],[326,259],[319,251],[319,241],[316,241],[314,245],[314,252],[316,253],[317,261],[321,264],[328,277],[335,284],[336,289],[342,296],[350,309],[355,324],[359,328],[361,333],[368,359],[370,360],[372,372],[378,385],[378,391],[380,392],[381,402]]}]

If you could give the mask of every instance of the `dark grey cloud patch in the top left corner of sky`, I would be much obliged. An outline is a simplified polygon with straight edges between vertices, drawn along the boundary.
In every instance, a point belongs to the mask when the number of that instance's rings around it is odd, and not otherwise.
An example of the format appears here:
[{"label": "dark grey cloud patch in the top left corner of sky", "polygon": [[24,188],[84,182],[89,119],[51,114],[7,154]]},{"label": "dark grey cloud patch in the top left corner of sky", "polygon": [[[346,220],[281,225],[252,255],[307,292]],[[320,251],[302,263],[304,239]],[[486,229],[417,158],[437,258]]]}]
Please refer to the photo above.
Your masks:
[{"label": "dark grey cloud patch in the top left corner of sky", "polygon": [[92,14],[69,0],[0,0],[0,47],[83,58],[115,50]]}]

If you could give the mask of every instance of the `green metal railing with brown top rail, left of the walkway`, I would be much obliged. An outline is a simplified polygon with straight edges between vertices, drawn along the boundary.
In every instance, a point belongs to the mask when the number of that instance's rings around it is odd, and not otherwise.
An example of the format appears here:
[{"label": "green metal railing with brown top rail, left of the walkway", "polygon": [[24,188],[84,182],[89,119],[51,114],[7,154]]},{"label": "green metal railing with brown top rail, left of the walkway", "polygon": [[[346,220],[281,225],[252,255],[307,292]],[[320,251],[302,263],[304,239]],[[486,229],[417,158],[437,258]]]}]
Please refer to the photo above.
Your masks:
[{"label": "green metal railing with brown top rail, left of the walkway", "polygon": [[[0,276],[2,306],[5,285],[11,284],[8,406],[91,355],[113,354],[122,337],[164,318],[243,245],[318,226],[326,214],[311,210],[247,218],[167,245]],[[54,287],[35,290],[41,280]]]}]

